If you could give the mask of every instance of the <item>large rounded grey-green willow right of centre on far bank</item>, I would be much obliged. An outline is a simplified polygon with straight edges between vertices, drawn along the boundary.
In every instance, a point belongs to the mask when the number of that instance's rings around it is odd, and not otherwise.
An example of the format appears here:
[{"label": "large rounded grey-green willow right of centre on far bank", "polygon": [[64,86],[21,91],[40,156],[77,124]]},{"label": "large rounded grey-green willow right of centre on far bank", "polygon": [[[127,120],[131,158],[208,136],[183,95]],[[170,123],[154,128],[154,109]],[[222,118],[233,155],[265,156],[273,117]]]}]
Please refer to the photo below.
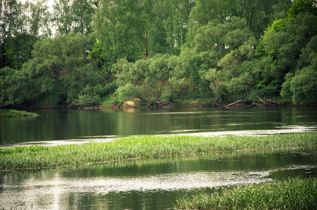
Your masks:
[{"label": "large rounded grey-green willow right of centre on far bank", "polygon": [[214,20],[196,29],[192,46],[181,51],[181,70],[176,68],[179,72],[173,73],[176,79],[172,80],[190,82],[205,97],[225,100],[226,84],[241,74],[241,63],[254,57],[255,47],[245,19],[232,17],[225,24]]}]

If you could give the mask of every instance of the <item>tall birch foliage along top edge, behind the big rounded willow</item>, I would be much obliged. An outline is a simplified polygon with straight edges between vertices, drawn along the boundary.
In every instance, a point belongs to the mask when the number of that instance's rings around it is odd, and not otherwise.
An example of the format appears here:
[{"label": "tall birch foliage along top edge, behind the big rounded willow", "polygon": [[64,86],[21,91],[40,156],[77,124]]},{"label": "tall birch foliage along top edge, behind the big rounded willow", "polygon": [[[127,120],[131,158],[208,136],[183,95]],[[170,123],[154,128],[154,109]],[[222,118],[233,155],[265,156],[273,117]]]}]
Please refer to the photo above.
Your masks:
[{"label": "tall birch foliage along top edge, behind the big rounded willow", "polygon": [[270,21],[286,16],[286,11],[291,4],[291,0],[196,0],[190,13],[187,39],[192,40],[199,27],[214,20],[226,23],[233,16],[244,18],[254,36],[259,39]]}]

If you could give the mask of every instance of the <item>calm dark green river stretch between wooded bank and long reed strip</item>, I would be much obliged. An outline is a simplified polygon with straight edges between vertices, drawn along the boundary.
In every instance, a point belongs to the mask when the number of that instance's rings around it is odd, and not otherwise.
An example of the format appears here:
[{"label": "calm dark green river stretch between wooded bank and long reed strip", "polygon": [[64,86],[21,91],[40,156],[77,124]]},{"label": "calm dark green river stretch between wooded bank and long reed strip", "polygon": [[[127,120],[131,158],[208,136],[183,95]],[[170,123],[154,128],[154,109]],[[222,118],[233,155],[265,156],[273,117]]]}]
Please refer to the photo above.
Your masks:
[{"label": "calm dark green river stretch between wooded bank and long reed strip", "polygon": [[98,142],[149,134],[215,136],[317,131],[315,107],[35,111],[41,116],[0,118],[0,145]]}]

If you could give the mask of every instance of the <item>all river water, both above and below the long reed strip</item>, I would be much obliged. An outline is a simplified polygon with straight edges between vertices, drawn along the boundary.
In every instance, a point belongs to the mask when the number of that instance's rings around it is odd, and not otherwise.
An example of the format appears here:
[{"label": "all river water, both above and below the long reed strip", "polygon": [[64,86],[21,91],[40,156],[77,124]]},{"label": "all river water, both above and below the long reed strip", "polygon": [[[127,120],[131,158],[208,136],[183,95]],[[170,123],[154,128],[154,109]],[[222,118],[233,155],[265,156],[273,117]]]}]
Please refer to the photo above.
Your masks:
[{"label": "all river water, both above and below the long reed strip", "polygon": [[[317,110],[174,108],[36,110],[0,118],[2,146],[110,141],[130,135],[267,135],[317,130]],[[316,177],[317,150],[214,153],[0,172],[0,208],[169,209],[224,187]]]}]

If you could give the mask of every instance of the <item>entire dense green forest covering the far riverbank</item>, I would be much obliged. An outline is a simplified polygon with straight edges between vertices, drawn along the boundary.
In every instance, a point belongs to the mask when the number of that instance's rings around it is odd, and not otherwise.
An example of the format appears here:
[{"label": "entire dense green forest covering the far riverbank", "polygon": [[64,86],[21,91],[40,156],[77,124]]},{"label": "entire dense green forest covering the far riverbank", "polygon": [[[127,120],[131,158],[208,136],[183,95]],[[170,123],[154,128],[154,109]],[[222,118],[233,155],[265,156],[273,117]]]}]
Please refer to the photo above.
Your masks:
[{"label": "entire dense green forest covering the far riverbank", "polygon": [[0,2],[0,107],[317,102],[316,0]]}]

